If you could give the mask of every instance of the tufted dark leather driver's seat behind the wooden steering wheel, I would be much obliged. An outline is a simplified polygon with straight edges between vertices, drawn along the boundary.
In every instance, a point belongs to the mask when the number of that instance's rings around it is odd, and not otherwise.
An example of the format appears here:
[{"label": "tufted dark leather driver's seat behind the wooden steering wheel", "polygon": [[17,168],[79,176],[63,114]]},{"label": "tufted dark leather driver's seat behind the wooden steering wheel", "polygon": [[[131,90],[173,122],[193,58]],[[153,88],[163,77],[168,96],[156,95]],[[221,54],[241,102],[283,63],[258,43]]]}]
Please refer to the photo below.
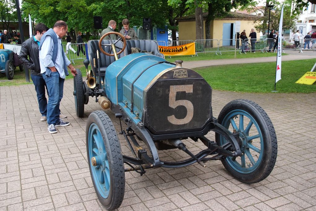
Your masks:
[{"label": "tufted dark leather driver's seat behind the wooden steering wheel", "polygon": [[[102,40],[102,44],[110,44],[110,40]],[[123,48],[123,43],[121,41],[117,42],[115,44],[116,52],[119,52]],[[88,41],[88,54],[89,54],[89,60],[91,63],[91,67],[94,72],[94,63],[93,59],[95,58],[95,66],[98,68],[98,59],[97,59],[97,50],[99,50],[99,57],[100,57],[100,71],[101,73],[104,73],[106,71],[106,68],[112,64],[112,62],[115,61],[114,56],[107,56],[100,52],[99,48],[99,40],[89,40]],[[106,53],[113,54],[112,47],[111,46],[103,46],[103,50]],[[119,58],[122,58],[125,56],[125,52],[123,51],[121,54],[118,55]]]}]

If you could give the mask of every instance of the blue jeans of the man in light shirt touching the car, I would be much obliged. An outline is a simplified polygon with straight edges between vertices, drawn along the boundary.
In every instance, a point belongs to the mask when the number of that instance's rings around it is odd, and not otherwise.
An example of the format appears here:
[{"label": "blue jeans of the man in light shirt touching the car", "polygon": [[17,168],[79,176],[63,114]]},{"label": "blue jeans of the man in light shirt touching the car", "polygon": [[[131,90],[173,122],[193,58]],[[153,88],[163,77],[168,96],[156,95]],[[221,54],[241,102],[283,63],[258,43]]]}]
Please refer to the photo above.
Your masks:
[{"label": "blue jeans of the man in light shirt touching the car", "polygon": [[47,104],[47,123],[56,124],[59,121],[59,105],[63,98],[64,81],[65,79],[59,77],[58,72],[52,72],[51,76],[46,76],[45,72],[42,74],[48,89],[48,104]]}]

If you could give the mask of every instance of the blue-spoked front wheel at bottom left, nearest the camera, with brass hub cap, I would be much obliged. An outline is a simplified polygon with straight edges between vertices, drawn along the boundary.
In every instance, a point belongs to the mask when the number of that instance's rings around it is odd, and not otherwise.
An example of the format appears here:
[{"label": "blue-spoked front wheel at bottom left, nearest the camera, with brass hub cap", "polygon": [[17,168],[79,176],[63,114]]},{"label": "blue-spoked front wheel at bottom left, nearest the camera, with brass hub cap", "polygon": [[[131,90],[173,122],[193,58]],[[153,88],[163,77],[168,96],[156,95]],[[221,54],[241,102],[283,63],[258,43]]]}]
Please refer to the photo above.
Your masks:
[{"label": "blue-spoked front wheel at bottom left, nearest the camera, with brass hub cap", "polygon": [[109,210],[116,209],[124,198],[124,164],[115,128],[104,111],[89,115],[86,145],[90,174],[99,201]]}]

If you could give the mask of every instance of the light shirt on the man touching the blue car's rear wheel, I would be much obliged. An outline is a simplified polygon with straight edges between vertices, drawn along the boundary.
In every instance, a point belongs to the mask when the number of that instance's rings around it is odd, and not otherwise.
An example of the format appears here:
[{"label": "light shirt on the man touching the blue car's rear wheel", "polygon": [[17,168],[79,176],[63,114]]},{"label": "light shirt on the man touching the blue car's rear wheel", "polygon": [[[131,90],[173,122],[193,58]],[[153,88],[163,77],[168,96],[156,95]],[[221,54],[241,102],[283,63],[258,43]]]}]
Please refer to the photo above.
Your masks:
[{"label": "light shirt on the man touching the blue car's rear wheel", "polygon": [[[56,33],[55,33],[56,34]],[[64,71],[64,60],[62,56],[62,50],[63,47],[61,45],[61,38],[58,37],[56,34],[57,40],[58,40],[58,51],[57,51],[57,57],[55,64],[52,61],[52,55],[53,55],[53,38],[51,36],[46,36],[42,48],[40,50],[40,73],[46,72],[46,67],[53,67],[57,69],[59,73],[59,77],[66,78],[66,74]],[[65,56],[66,66],[70,65],[69,59]]]}]

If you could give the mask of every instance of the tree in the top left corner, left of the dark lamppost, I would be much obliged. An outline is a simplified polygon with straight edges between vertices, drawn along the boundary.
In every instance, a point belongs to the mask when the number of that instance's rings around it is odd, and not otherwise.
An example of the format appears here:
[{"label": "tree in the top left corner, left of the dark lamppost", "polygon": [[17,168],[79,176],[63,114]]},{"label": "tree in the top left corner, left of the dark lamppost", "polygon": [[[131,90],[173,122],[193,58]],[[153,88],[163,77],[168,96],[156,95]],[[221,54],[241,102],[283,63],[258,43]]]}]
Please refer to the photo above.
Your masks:
[{"label": "tree in the top left corner, left of the dark lamppost", "polygon": [[0,20],[2,28],[9,30],[10,21],[15,21],[17,18],[14,0],[1,0],[0,2]]}]

